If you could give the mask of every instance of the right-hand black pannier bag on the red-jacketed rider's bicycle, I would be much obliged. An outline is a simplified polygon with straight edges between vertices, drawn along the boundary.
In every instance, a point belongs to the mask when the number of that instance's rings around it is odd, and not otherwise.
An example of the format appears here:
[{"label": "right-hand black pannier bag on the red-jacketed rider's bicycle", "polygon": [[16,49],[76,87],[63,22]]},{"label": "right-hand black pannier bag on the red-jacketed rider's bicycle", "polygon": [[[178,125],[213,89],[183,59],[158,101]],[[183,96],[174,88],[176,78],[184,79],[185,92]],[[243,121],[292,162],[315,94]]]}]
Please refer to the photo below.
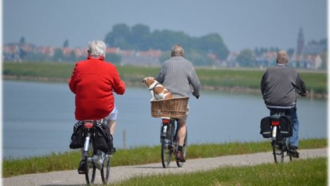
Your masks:
[{"label": "right-hand black pannier bag on the red-jacketed rider's bicycle", "polygon": [[102,150],[103,153],[111,154],[113,148],[112,135],[105,124],[98,124],[95,128],[95,148]]}]

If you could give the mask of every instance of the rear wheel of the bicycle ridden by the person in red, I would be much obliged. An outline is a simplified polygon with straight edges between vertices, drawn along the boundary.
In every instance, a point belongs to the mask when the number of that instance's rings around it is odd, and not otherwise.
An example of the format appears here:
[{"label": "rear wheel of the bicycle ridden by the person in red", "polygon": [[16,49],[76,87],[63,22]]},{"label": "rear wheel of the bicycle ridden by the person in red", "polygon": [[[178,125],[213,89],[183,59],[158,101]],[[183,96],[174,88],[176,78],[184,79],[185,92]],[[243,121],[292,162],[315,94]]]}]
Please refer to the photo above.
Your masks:
[{"label": "rear wheel of the bicycle ridden by the person in red", "polygon": [[94,162],[92,161],[92,157],[95,154],[92,140],[90,140],[90,143],[88,145],[87,152],[84,152],[84,160],[85,160],[85,178],[87,184],[94,183],[95,181],[95,172],[96,172],[96,166]]}]

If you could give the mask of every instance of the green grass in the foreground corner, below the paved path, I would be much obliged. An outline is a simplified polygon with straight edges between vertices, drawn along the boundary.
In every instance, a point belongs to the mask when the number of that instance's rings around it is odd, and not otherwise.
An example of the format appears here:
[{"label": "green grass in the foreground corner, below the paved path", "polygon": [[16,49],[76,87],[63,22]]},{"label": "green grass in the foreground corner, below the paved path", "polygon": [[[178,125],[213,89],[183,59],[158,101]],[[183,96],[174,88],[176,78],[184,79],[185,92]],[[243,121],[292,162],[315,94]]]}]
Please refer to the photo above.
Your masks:
[{"label": "green grass in the foreground corner, below the paved path", "polygon": [[284,164],[220,167],[187,174],[134,177],[112,185],[326,185],[326,157]]}]

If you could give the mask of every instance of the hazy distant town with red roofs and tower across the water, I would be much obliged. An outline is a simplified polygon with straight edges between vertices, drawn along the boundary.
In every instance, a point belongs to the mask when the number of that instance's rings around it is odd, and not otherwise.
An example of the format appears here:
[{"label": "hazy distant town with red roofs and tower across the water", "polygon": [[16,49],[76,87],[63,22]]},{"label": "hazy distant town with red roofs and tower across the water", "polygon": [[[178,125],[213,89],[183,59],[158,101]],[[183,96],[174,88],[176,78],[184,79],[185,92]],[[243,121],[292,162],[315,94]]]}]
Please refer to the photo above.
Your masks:
[{"label": "hazy distant town with red roofs and tower across the water", "polygon": [[[267,68],[275,64],[278,48],[255,48],[242,51],[230,51],[225,60],[220,60],[213,53],[206,56],[212,61],[213,67],[252,67]],[[26,43],[21,38],[18,43],[6,43],[3,46],[2,60],[13,63],[23,61],[55,61],[55,62],[77,62],[87,56],[87,48],[70,48],[68,41],[63,47],[35,46]],[[117,65],[133,66],[159,66],[164,59],[169,58],[169,51],[152,50],[134,51],[122,50],[119,47],[107,47],[106,60]],[[302,28],[299,29],[297,37],[297,48],[287,51],[289,54],[289,65],[295,68],[326,69],[327,67],[327,40],[309,41],[305,43]],[[198,66],[197,59],[191,59]],[[204,65],[205,66],[205,65]]]}]

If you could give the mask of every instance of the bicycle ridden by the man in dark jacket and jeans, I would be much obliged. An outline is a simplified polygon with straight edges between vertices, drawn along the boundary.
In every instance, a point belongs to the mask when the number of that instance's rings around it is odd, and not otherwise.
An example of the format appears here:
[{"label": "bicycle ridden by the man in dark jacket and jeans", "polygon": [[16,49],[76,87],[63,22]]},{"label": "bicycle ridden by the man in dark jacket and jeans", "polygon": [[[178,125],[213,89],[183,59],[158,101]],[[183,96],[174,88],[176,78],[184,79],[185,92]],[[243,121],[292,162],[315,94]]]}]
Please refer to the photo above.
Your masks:
[{"label": "bicycle ridden by the man in dark jacket and jeans", "polygon": [[272,138],[272,153],[276,163],[284,162],[284,157],[289,157],[289,161],[292,161],[293,157],[299,157],[298,153],[292,153],[289,150],[289,137],[292,135],[292,121],[288,118],[289,125],[286,127],[283,123],[286,115],[284,109],[274,109],[270,115],[271,125],[271,138]]}]

